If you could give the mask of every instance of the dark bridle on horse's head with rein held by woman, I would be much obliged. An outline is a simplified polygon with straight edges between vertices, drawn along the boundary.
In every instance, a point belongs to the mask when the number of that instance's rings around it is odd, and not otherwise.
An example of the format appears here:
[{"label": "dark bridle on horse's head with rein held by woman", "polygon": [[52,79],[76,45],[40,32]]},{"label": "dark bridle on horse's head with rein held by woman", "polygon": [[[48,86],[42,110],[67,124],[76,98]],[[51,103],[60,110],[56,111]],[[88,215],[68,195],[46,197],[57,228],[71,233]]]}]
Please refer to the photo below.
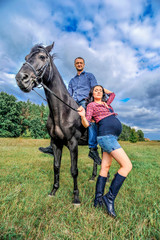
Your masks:
[{"label": "dark bridle on horse's head with rein held by woman", "polygon": [[[36,79],[33,79],[33,82],[35,82],[35,84],[36,84],[36,86],[38,86],[38,85],[41,85],[41,86],[43,86],[47,91],[49,91],[53,96],[55,96],[58,100],[60,100],[62,103],[64,103],[66,106],[68,106],[69,108],[71,108],[72,110],[74,110],[74,111],[76,111],[76,112],[78,112],[78,110],[77,109],[75,109],[75,108],[73,108],[73,107],[71,107],[70,105],[68,105],[66,102],[64,102],[61,98],[59,98],[53,91],[51,91],[44,83],[43,83],[43,81],[42,81],[42,78],[43,78],[43,76],[44,76],[44,74],[45,74],[45,72],[46,72],[46,70],[47,70],[47,67],[49,66],[50,67],[50,65],[51,65],[51,59],[50,59],[50,55],[48,54],[48,52],[46,51],[46,49],[45,48],[43,48],[43,47],[41,47],[41,48],[37,48],[38,50],[43,50],[46,54],[47,54],[47,56],[48,56],[48,58],[49,58],[49,61],[47,61],[46,62],[46,64],[44,65],[44,66],[42,66],[40,69],[39,69],[39,71],[37,72],[37,70],[29,63],[29,62],[25,62],[24,64],[23,64],[23,66],[24,65],[28,65],[31,69],[32,69],[32,71],[34,72],[34,74],[35,74],[35,76],[36,76]],[[35,54],[37,51],[35,51],[35,52],[33,52],[32,53],[32,55],[33,54]],[[31,56],[32,56],[31,55]],[[49,69],[49,77],[48,77],[48,81],[50,80],[50,77],[51,77],[51,69]],[[41,80],[41,81],[40,81]],[[33,91],[35,91],[34,89],[32,89]],[[36,92],[36,91],[35,91]],[[36,92],[37,93],[37,92]],[[40,97],[42,97],[39,93],[37,93]],[[43,97],[42,97],[43,98]],[[44,98],[43,98],[44,99]],[[46,99],[44,99],[45,101],[47,101]]]}]

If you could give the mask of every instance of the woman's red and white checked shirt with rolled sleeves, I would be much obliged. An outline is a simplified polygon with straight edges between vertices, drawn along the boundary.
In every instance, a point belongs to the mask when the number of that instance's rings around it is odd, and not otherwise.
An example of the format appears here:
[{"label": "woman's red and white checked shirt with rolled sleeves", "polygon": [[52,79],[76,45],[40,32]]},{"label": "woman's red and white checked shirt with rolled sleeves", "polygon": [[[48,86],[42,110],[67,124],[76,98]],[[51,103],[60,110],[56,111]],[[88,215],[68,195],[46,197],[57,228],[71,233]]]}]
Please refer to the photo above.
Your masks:
[{"label": "woman's red and white checked shirt with rolled sleeves", "polygon": [[108,107],[106,105],[99,104],[96,102],[91,102],[87,105],[86,119],[88,120],[88,122],[91,122],[93,118],[95,122],[98,123],[103,118],[106,118],[111,115],[117,115],[117,113],[115,113],[113,108],[110,106],[110,104],[115,98],[115,93],[112,92],[108,95],[109,95],[109,98],[106,101]]}]

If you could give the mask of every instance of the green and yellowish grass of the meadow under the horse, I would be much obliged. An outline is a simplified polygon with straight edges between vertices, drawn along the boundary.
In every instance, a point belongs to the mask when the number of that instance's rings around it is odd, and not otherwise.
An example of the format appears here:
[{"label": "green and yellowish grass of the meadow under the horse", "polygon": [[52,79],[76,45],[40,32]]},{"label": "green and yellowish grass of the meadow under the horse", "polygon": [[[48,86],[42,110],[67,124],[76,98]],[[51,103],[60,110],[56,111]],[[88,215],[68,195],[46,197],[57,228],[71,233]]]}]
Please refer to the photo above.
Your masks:
[{"label": "green and yellowish grass of the meadow under the horse", "polygon": [[[53,159],[38,150],[48,144],[49,140],[0,139],[1,240],[160,239],[160,142],[121,143],[133,169],[116,198],[116,219],[93,207],[95,182],[88,181],[93,162],[87,146],[79,147],[81,206],[72,205],[67,148],[63,149],[60,188],[55,197],[48,197],[54,179]],[[111,179],[117,170],[114,161]],[[106,191],[108,187],[109,183]]]}]

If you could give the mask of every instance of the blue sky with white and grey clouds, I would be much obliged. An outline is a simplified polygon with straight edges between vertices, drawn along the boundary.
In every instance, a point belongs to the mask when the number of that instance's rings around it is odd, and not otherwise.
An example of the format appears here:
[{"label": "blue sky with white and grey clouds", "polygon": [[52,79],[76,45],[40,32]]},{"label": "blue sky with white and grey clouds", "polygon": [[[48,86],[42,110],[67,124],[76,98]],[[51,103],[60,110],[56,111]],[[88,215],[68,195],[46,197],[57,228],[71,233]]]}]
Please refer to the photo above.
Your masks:
[{"label": "blue sky with white and grey clouds", "polygon": [[160,139],[159,0],[1,0],[0,16],[0,91],[41,104],[17,87],[15,74],[33,45],[54,41],[66,85],[74,59],[84,57],[85,70],[116,93],[120,120]]}]

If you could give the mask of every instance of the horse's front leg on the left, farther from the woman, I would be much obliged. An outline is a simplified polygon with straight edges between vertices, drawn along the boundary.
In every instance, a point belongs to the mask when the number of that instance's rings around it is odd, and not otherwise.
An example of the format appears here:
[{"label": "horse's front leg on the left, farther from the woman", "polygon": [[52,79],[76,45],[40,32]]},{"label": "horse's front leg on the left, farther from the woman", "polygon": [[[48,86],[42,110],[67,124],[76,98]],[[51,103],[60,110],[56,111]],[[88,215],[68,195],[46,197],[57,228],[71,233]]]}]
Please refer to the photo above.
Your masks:
[{"label": "horse's front leg on the left, farther from the woman", "polygon": [[61,166],[61,157],[62,157],[62,148],[63,145],[56,140],[56,144],[52,141],[52,148],[54,152],[54,184],[51,193],[49,196],[54,196],[56,191],[59,188],[59,173],[60,173],[60,166]]}]

